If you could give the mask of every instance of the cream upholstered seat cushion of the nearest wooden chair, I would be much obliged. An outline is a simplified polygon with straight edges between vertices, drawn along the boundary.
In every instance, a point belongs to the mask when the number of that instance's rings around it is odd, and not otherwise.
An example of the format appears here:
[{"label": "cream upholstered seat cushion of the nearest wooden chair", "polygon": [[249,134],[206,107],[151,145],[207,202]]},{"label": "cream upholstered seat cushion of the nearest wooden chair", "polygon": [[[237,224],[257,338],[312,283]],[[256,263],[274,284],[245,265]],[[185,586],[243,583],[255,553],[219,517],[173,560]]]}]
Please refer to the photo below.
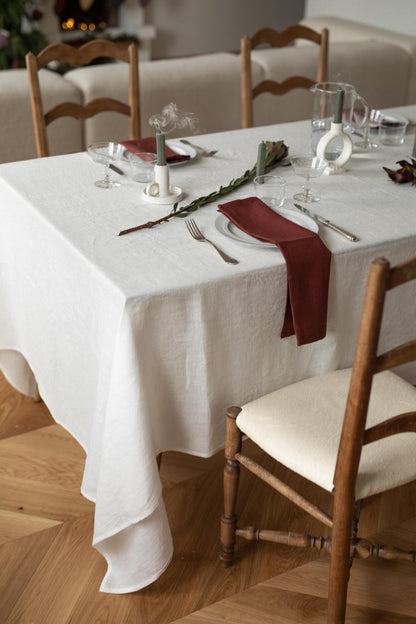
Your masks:
[{"label": "cream upholstered seat cushion of the nearest wooden chair", "polygon": [[[247,403],[237,425],[288,468],[331,491],[351,369],[305,379]],[[373,380],[367,426],[416,411],[416,388],[385,371]],[[363,447],[356,498],[416,478],[416,434],[401,433]]]}]

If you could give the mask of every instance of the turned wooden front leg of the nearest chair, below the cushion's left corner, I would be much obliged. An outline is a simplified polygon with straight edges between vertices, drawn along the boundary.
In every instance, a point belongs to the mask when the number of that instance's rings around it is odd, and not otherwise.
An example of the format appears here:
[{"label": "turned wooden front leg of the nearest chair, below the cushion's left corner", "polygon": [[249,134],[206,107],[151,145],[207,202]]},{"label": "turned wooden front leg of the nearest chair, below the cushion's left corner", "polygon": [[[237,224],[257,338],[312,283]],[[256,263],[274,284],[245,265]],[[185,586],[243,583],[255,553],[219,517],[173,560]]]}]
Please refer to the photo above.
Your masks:
[{"label": "turned wooden front leg of the nearest chair, below the cushion's left corner", "polygon": [[222,565],[227,568],[234,559],[235,531],[240,465],[235,454],[241,451],[242,433],[236,425],[236,418],[241,412],[239,407],[232,407],[227,412],[225,434],[225,466],[224,466],[224,513],[221,517],[221,555]]}]

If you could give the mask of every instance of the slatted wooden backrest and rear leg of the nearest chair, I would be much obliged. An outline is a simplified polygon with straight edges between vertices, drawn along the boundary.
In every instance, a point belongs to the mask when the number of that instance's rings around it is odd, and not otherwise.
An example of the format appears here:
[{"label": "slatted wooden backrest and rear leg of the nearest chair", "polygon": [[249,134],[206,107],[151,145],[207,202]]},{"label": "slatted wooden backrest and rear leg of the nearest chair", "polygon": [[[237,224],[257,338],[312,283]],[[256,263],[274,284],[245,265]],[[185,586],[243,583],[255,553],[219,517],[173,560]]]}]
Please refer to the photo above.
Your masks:
[{"label": "slatted wooden backrest and rear leg of the nearest chair", "polygon": [[[416,412],[398,414],[367,427],[374,375],[416,360],[416,340],[378,352],[386,294],[415,278],[416,256],[395,267],[390,267],[387,260],[379,258],[370,267],[334,474],[328,622],[343,622],[345,616],[349,570],[348,565],[337,563],[348,562],[351,557],[351,527],[354,527],[356,510],[355,486],[362,448],[398,433],[416,433]],[[399,396],[397,403],[400,405]],[[386,466],[388,469],[389,466]],[[395,557],[386,555],[386,558]]]}]

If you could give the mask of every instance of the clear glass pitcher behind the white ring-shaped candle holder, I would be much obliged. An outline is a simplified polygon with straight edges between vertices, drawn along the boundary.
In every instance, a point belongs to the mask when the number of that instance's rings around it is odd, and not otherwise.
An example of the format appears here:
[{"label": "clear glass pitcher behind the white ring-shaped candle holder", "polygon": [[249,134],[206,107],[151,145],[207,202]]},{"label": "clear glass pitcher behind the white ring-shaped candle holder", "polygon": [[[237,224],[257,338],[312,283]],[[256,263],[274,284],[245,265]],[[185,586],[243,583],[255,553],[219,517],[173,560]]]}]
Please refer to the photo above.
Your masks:
[{"label": "clear glass pitcher behind the white ring-shaped candle holder", "polygon": [[[316,154],[316,146],[319,139],[331,128],[331,121],[334,120],[335,105],[337,101],[337,90],[342,87],[344,90],[344,104],[342,121],[344,131],[351,133],[353,128],[361,128],[367,122],[368,106],[350,84],[344,82],[318,82],[311,87],[313,94],[312,109],[312,137],[311,151]],[[359,114],[355,114],[356,111]],[[359,120],[359,122],[357,121]],[[336,160],[342,151],[341,142],[335,140],[330,144],[330,149],[326,153],[327,160]]]}]

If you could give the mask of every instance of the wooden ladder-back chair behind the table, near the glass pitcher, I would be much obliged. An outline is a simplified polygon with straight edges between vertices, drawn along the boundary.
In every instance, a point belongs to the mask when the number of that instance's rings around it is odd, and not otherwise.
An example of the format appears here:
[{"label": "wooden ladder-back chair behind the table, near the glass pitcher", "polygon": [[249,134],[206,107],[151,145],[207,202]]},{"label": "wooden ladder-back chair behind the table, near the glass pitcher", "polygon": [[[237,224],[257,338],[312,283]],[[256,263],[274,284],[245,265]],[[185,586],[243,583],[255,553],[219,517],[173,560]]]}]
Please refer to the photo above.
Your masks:
[{"label": "wooden ladder-back chair behind the table, near the glass pitcher", "polygon": [[[241,39],[241,109],[242,127],[253,126],[253,100],[261,93],[283,95],[292,89],[309,89],[316,82],[325,82],[328,74],[328,29],[320,33],[308,26],[297,24],[289,26],[282,32],[272,28],[261,28],[252,37],[247,35]],[[296,39],[307,39],[319,45],[318,71],[316,80],[303,76],[292,76],[279,83],[273,80],[263,80],[253,86],[251,75],[251,51],[260,45],[269,45],[273,48],[282,48]]]}]

